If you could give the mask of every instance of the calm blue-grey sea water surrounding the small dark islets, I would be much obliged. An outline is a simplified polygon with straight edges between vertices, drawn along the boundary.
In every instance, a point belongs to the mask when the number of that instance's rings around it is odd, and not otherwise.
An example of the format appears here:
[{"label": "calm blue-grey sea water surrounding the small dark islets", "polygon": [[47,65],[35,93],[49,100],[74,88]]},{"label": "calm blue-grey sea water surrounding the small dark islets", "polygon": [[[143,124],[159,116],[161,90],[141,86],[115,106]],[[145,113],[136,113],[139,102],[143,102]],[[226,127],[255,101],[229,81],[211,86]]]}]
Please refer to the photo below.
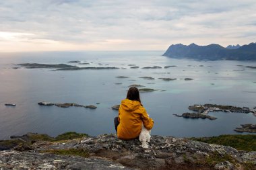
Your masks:
[{"label": "calm blue-grey sea water surrounding the small dark islets", "polygon": [[[152,134],[216,136],[236,134],[240,124],[255,124],[253,114],[214,112],[216,120],[192,120],[173,114],[189,112],[189,105],[216,103],[256,106],[256,62],[191,60],[162,56],[163,51],[27,52],[0,54],[0,139],[27,132],[57,136],[75,131],[91,136],[115,133],[113,105],[125,99],[129,85],[156,89],[141,93],[141,102],[155,124]],[[89,65],[69,64],[79,60]],[[108,70],[53,71],[13,69],[19,63],[67,64],[78,67],[119,67]],[[164,69],[165,66],[175,66]],[[139,69],[131,69],[137,66]],[[142,69],[159,66],[162,69]],[[126,76],[128,78],[117,78]],[[140,77],[153,77],[152,80]],[[177,79],[163,81],[159,78]],[[185,81],[191,78],[191,81]],[[96,105],[86,108],[41,106],[39,101]],[[5,103],[16,103],[15,107]],[[99,104],[97,104],[99,103]],[[244,133],[245,134],[245,133]]]}]

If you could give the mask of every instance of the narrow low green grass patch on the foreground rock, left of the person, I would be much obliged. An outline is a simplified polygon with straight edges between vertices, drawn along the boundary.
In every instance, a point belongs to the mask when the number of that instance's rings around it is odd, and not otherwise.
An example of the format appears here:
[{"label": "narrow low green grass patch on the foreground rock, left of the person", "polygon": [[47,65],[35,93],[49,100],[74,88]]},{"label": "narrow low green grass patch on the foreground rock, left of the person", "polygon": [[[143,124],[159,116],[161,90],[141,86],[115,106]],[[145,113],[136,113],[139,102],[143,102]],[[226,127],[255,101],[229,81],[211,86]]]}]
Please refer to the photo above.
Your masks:
[{"label": "narrow low green grass patch on the foreground rock, left of the person", "polygon": [[69,149],[51,149],[40,151],[40,153],[53,153],[57,155],[74,155],[79,157],[89,157],[88,151],[83,148],[69,148]]}]

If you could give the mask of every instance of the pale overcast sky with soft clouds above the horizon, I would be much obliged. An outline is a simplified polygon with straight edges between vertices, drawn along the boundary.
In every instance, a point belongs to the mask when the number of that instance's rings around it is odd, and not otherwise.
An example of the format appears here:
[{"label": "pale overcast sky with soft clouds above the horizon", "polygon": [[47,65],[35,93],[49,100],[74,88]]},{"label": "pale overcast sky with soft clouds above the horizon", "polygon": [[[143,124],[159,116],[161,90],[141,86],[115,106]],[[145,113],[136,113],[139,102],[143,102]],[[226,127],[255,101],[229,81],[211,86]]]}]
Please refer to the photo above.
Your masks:
[{"label": "pale overcast sky with soft clouds above the horizon", "polygon": [[0,1],[0,52],[256,42],[255,0]]}]

